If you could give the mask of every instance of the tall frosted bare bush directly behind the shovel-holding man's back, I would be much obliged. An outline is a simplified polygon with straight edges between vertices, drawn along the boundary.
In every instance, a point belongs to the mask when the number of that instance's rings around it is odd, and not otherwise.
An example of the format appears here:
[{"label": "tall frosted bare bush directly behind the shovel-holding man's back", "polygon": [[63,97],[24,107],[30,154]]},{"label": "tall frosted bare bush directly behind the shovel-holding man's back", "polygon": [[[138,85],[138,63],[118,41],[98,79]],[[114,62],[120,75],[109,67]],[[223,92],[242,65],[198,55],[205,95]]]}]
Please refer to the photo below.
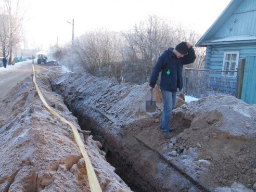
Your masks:
[{"label": "tall frosted bare bush directly behind the shovel-holding man's back", "polygon": [[123,47],[122,55],[126,62],[126,79],[130,76],[134,83],[148,81],[153,65],[171,44],[171,34],[168,23],[157,16],[149,16],[147,21],[135,24],[133,30],[124,32],[126,46]]}]

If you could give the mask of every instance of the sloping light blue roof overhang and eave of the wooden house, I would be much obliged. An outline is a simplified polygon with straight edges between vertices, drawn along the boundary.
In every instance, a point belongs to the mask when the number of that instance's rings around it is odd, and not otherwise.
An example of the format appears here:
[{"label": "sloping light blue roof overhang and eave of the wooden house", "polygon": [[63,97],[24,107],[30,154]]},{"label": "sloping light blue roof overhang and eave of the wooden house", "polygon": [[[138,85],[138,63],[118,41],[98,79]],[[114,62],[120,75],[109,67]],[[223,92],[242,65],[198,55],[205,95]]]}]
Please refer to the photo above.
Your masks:
[{"label": "sloping light blue roof overhang and eave of the wooden house", "polygon": [[[205,47],[209,44],[216,44],[217,42],[226,42],[225,38],[222,39],[213,39],[212,37],[214,34],[220,30],[220,28],[225,24],[226,20],[232,16],[233,12],[241,5],[242,2],[245,0],[232,0],[227,7],[222,11],[221,15],[214,21],[214,23],[211,25],[211,27],[206,31],[206,33],[203,34],[201,39],[196,43],[197,47]],[[248,35],[246,35],[248,36]],[[245,35],[242,35],[240,37],[236,37],[239,41],[242,39],[242,37],[246,37]],[[252,35],[253,36],[253,35]],[[255,36],[251,37],[254,38]],[[228,38],[227,38],[228,39]],[[239,40],[238,40],[239,39]],[[229,40],[230,42],[231,40]],[[233,40],[234,41],[234,40]]]}]

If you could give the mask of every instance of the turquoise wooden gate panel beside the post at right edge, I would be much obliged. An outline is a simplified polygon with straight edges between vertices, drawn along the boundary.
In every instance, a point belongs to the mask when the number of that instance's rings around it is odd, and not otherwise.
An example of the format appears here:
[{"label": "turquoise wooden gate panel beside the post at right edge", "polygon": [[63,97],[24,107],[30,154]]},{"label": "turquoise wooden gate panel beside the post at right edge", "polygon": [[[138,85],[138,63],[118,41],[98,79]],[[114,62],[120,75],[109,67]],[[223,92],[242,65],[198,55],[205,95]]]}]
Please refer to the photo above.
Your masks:
[{"label": "turquoise wooden gate panel beside the post at right edge", "polygon": [[256,104],[256,57],[247,56],[242,81],[241,99],[248,104]]}]

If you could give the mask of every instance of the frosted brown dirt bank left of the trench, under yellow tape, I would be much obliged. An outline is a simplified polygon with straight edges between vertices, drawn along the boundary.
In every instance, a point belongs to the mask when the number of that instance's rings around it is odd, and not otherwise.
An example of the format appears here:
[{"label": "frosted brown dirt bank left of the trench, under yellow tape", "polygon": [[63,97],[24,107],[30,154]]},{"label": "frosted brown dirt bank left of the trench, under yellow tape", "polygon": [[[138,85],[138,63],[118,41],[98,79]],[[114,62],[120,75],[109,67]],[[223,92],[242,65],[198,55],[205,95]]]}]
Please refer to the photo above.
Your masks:
[{"label": "frosted brown dirt bank left of the trench, under yellow tape", "polygon": [[[50,91],[48,78],[36,75],[36,80],[48,105],[80,129],[62,98]],[[43,106],[31,77],[12,89],[0,107],[0,191],[90,191],[70,127]],[[89,136],[84,146],[103,191],[131,191],[99,142]]]}]

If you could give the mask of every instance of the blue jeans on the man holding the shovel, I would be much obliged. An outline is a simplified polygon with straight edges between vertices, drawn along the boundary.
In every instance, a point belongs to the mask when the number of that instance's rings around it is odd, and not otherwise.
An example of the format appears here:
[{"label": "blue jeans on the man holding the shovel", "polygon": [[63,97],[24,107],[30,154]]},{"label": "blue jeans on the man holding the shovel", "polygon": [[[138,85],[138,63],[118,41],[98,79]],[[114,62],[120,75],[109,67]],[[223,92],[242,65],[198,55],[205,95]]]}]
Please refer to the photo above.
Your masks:
[{"label": "blue jeans on the man holding the shovel", "polygon": [[175,108],[176,92],[164,91],[161,89],[163,97],[163,114],[161,119],[161,131],[169,131],[169,124],[172,118],[172,110]]}]

